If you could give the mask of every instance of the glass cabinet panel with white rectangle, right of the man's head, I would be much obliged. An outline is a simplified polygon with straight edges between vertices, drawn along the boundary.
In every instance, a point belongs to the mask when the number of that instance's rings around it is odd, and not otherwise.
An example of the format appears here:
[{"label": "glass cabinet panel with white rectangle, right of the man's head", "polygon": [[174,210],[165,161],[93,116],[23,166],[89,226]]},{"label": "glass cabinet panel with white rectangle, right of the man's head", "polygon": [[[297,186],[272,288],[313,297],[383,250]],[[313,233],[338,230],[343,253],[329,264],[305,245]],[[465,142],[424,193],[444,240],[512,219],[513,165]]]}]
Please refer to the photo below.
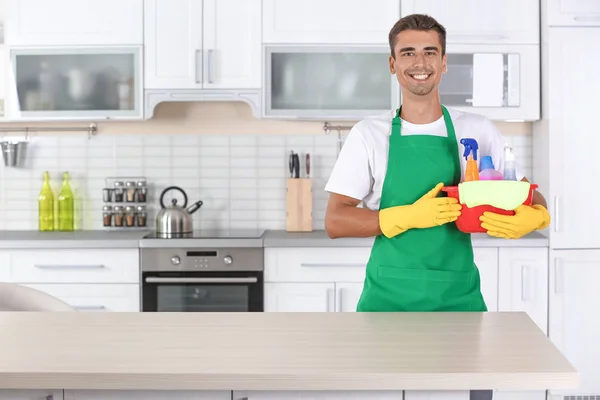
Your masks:
[{"label": "glass cabinet panel with white rectangle, right of the man's head", "polygon": [[447,55],[440,82],[442,104],[454,107],[519,107],[519,54]]}]

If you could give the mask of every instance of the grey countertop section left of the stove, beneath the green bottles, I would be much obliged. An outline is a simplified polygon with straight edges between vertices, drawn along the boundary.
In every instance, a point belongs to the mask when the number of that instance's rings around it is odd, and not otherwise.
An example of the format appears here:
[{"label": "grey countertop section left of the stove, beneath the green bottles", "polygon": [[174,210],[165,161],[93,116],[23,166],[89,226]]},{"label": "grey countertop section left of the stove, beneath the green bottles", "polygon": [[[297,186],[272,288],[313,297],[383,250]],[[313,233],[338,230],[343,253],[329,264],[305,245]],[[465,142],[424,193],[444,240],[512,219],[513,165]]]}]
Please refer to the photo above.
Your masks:
[{"label": "grey countertop section left of the stove, beneath the green bottles", "polygon": [[0,249],[138,248],[149,230],[73,232],[2,231]]}]

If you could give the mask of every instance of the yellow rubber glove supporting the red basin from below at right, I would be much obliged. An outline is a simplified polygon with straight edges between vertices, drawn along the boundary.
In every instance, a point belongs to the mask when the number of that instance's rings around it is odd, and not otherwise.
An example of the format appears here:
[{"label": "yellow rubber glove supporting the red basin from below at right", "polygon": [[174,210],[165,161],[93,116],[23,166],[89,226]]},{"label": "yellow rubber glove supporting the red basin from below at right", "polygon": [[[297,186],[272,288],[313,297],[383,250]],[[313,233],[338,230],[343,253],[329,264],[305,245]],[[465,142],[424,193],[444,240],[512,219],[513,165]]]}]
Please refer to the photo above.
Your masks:
[{"label": "yellow rubber glove supporting the red basin from below at right", "polygon": [[538,229],[550,225],[550,213],[544,206],[521,205],[515,209],[515,215],[500,215],[485,212],[479,220],[487,234],[504,239],[518,239]]}]

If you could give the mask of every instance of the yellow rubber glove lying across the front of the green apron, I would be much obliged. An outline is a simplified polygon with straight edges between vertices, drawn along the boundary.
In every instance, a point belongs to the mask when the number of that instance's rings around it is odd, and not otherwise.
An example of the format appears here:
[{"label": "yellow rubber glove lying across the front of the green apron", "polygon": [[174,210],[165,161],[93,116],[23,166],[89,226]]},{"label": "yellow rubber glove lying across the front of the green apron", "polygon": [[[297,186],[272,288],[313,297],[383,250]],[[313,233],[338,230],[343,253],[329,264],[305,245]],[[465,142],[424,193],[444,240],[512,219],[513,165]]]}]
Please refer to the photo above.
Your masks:
[{"label": "yellow rubber glove lying across the front of the green apron", "polygon": [[391,238],[409,229],[431,228],[456,221],[462,206],[452,197],[437,197],[443,186],[443,183],[438,183],[413,204],[380,210],[381,232]]}]

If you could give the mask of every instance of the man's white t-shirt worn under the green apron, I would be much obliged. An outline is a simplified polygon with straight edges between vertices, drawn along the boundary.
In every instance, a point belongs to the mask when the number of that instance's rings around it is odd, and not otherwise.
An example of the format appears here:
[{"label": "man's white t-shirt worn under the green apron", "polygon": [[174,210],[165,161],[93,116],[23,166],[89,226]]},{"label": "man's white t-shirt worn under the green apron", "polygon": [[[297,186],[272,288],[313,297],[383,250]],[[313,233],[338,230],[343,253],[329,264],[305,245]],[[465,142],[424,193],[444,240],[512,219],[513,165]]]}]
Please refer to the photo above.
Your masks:
[{"label": "man's white t-shirt worn under the green apron", "polygon": [[[463,137],[477,140],[477,162],[483,156],[491,156],[496,170],[504,170],[504,146],[502,134],[488,118],[474,113],[448,108],[461,161],[461,179],[464,178]],[[370,210],[379,209],[381,189],[387,170],[389,135],[395,110],[358,122],[348,134],[344,146],[333,167],[325,190],[349,196],[363,202]],[[402,120],[402,135],[448,136],[444,117],[429,124],[411,124]],[[517,180],[523,179],[516,166]],[[401,184],[401,183],[399,183]],[[423,193],[425,194],[425,193]]]}]

